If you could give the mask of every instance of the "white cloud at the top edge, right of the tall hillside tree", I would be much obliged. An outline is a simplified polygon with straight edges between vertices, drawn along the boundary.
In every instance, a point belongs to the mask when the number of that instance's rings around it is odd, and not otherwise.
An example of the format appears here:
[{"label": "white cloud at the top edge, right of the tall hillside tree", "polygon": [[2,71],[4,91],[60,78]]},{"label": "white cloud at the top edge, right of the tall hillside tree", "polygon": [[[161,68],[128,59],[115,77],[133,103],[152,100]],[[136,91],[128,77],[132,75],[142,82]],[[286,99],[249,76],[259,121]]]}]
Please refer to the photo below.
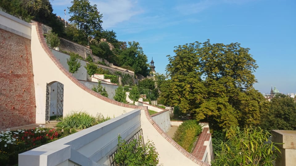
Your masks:
[{"label": "white cloud at the top edge, right of the tall hillside tree", "polygon": [[128,21],[131,17],[141,14],[143,10],[137,6],[134,0],[105,0],[90,1],[96,4],[98,11],[103,14],[103,28],[108,29],[116,26],[120,22]]}]

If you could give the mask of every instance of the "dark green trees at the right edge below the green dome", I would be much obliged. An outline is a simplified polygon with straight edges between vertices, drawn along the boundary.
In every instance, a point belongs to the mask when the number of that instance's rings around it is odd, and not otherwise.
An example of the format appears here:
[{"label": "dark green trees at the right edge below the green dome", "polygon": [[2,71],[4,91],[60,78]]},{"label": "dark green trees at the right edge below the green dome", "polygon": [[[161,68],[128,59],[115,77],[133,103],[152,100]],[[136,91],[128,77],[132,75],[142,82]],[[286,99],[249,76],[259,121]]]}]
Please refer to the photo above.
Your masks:
[{"label": "dark green trees at the right edge below the green dome", "polygon": [[278,94],[265,103],[261,126],[266,130],[296,130],[296,103],[293,98]]}]

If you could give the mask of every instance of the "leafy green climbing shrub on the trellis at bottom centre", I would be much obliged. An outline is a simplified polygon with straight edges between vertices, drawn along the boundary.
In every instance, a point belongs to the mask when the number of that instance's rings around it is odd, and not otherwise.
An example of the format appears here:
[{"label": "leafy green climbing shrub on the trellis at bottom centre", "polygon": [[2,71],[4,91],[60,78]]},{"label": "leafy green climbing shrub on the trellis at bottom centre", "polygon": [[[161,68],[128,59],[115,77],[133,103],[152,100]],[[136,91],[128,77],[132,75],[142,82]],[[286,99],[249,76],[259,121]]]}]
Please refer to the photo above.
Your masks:
[{"label": "leafy green climbing shrub on the trellis at bottom centre", "polygon": [[121,166],[156,166],[159,162],[154,143],[148,140],[146,145],[143,145],[141,136],[140,140],[134,139],[130,143],[118,136],[118,149],[114,161]]}]

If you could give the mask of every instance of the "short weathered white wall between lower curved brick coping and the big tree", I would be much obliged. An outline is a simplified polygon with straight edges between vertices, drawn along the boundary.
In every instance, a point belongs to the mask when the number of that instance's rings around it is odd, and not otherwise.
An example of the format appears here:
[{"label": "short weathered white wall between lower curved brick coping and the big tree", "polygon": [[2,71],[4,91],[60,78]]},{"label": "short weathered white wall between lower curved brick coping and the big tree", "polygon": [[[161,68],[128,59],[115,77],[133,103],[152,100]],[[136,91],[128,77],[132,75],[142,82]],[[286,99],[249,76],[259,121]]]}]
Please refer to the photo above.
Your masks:
[{"label": "short weathered white wall between lower curved brick coping and the big tree", "polygon": [[171,119],[169,110],[159,113],[158,115],[151,116],[151,118],[158,124],[158,126],[167,132],[171,128]]}]

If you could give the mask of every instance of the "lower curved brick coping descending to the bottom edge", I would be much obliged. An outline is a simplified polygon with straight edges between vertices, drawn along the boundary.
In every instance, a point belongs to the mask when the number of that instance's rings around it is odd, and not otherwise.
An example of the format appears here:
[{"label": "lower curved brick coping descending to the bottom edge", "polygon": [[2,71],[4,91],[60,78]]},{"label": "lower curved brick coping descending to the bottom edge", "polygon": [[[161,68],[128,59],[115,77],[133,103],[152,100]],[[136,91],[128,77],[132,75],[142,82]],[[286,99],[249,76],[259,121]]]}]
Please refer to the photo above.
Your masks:
[{"label": "lower curved brick coping descending to the bottom edge", "polygon": [[197,157],[193,156],[191,153],[187,152],[184,148],[182,148],[177,142],[175,142],[170,136],[167,135],[159,126],[156,124],[156,122],[150,117],[148,112],[148,107],[145,108],[145,116],[148,119],[148,121],[153,125],[153,127],[158,131],[159,134],[161,134],[168,142],[170,142],[176,149],[179,150],[184,156],[186,156],[188,159],[192,160],[196,164],[199,164],[200,166],[210,166],[210,164],[205,163],[198,159]]}]

